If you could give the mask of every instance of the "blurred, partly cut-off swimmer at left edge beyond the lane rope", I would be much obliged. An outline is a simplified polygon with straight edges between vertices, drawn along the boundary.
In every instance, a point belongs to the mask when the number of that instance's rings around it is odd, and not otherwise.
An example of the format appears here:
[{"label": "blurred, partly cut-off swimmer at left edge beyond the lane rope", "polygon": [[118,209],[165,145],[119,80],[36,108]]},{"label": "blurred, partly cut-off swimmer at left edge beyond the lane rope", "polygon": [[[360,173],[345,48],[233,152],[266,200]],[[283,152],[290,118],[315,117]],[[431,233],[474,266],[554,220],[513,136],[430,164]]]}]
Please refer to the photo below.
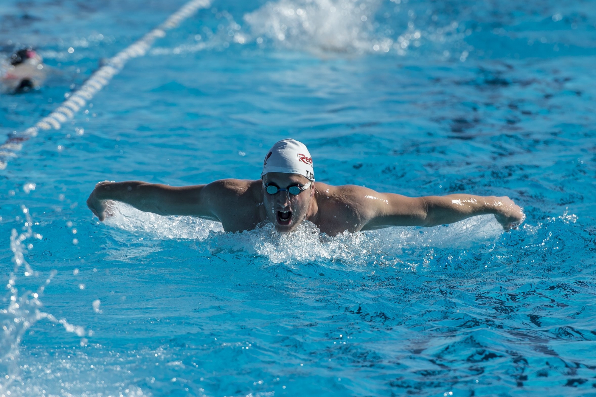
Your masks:
[{"label": "blurred, partly cut-off swimmer at left edge beyond the lane rope", "polygon": [[42,57],[31,47],[19,49],[10,57],[2,84],[9,92],[27,92],[39,87],[45,80]]}]

